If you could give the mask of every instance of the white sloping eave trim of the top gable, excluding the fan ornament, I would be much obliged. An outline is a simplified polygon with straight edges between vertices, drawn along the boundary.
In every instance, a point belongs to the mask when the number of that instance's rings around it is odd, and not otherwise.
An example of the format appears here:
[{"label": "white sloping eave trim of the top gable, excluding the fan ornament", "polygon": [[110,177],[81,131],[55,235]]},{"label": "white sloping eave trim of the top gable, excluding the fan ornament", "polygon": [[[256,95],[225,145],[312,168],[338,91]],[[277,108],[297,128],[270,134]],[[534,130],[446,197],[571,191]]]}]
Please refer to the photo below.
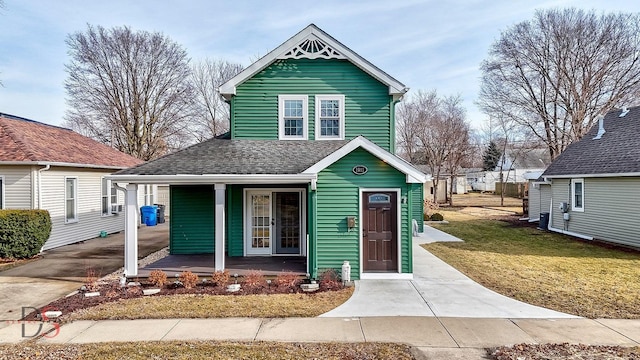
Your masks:
[{"label": "white sloping eave trim of the top gable, excluding the fan ornament", "polygon": [[219,92],[225,99],[231,99],[232,95],[236,94],[236,87],[247,79],[250,79],[258,72],[271,65],[280,56],[291,50],[294,46],[297,46],[301,41],[305,40],[309,36],[316,36],[327,44],[331,45],[335,50],[342,54],[351,63],[362,69],[367,74],[373,76],[381,83],[389,87],[389,95],[393,95],[394,99],[400,99],[409,89],[399,82],[398,80],[385,73],[377,66],[373,65],[360,55],[353,52],[351,49],[340,43],[338,40],[331,37],[329,34],[322,31],[314,24],[310,24],[302,31],[294,35],[289,40],[285,41],[282,45],[278,46],[267,55],[263,56],[260,60],[249,65],[246,69],[241,71],[236,76],[229,79],[226,83],[220,86]]}]

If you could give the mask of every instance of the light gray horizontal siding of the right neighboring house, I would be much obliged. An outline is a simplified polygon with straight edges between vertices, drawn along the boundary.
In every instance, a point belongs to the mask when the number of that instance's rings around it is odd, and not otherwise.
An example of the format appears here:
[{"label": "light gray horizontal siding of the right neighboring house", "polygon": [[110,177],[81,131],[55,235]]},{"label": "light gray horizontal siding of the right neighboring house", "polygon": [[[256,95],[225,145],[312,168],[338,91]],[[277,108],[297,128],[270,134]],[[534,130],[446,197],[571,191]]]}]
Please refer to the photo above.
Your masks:
[{"label": "light gray horizontal siding of the right neighboring house", "polygon": [[[553,226],[563,228],[557,204],[569,200],[570,180],[554,179]],[[585,178],[584,212],[569,211],[566,229],[622,245],[640,247],[640,178]]]}]

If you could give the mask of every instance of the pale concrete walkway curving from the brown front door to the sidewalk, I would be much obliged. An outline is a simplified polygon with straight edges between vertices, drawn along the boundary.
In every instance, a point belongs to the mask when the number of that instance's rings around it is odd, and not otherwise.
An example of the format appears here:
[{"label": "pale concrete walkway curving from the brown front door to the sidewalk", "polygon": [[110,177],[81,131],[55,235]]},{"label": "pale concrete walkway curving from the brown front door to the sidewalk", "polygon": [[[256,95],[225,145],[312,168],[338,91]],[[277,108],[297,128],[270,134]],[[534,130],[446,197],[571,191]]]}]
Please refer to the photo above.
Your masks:
[{"label": "pale concrete walkway curving from the brown front door to the sidewalk", "polygon": [[425,226],[413,239],[413,280],[357,280],[353,296],[321,317],[576,318],[481,286],[420,246],[436,241],[462,240]]}]

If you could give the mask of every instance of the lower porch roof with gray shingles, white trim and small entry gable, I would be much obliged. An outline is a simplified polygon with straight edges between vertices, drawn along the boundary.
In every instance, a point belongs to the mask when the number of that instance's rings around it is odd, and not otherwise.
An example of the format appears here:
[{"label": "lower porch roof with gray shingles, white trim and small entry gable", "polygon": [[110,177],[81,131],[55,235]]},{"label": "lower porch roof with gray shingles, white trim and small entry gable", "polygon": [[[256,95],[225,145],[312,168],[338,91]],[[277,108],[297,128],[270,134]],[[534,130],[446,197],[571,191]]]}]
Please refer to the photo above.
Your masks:
[{"label": "lower porch roof with gray shingles, white trim and small entry gable", "polygon": [[426,176],[411,164],[366,138],[332,141],[209,139],[147,163],[118,171],[118,181],[145,183],[304,183],[351,151],[363,148],[423,183]]}]

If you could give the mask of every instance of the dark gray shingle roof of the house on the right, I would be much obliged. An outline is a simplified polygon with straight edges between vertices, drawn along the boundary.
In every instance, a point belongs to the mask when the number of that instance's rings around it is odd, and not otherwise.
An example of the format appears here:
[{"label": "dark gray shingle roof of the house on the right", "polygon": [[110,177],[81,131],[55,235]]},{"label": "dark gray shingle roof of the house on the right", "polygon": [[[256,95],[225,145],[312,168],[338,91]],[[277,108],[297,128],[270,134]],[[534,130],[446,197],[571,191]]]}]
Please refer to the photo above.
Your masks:
[{"label": "dark gray shingle roof of the house on the right", "polygon": [[598,133],[598,124],[549,165],[542,176],[640,173],[640,107],[620,116],[614,110],[604,117],[605,134]]}]

